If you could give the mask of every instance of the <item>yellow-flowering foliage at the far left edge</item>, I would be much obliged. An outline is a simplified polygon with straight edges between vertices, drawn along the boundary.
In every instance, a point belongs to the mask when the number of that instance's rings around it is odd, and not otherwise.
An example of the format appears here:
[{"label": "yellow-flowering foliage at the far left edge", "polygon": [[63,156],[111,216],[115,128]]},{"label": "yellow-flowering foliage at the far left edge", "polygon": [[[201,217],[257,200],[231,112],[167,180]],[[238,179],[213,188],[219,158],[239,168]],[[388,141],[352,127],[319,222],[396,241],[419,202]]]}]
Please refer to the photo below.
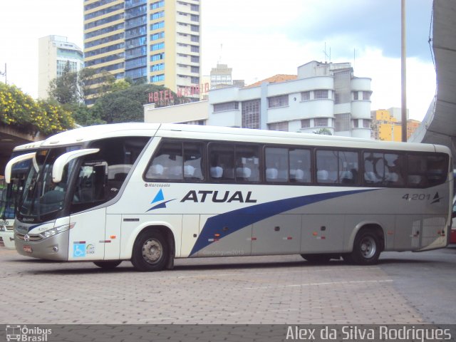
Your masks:
[{"label": "yellow-flowering foliage at the far left edge", "polygon": [[52,135],[73,128],[74,120],[58,103],[35,101],[16,86],[0,83],[0,124],[32,135]]}]

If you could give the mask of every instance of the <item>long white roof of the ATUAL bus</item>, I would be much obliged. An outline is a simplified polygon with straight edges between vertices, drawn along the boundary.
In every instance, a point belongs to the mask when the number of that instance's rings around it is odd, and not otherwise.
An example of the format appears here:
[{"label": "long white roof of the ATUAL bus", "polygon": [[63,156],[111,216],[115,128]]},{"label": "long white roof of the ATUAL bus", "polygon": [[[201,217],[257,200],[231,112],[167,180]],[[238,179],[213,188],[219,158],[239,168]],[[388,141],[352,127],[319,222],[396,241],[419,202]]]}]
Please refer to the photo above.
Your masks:
[{"label": "long white roof of the ATUAL bus", "polygon": [[[173,123],[115,123],[95,125],[58,133],[44,140],[41,147],[74,145],[90,140],[123,136],[165,136],[170,138],[199,138],[205,140],[239,140],[244,142],[298,143],[299,145],[365,147],[385,150],[410,150],[445,152],[445,146],[415,142],[385,142],[337,135],[316,135],[309,133],[281,132],[276,130],[254,130],[208,125],[185,125]],[[297,140],[297,141],[293,141]]]}]

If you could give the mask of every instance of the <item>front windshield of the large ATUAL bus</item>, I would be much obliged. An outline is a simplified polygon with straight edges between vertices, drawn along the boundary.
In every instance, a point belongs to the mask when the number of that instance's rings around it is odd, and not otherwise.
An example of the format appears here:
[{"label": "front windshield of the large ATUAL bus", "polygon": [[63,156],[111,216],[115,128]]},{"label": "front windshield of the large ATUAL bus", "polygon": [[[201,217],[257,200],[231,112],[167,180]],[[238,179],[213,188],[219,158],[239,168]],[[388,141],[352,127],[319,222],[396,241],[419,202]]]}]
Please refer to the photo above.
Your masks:
[{"label": "front windshield of the large ATUAL bus", "polygon": [[[33,222],[54,219],[63,209],[68,190],[68,176],[75,161],[66,165],[61,182],[52,181],[53,163],[63,153],[78,150],[79,146],[56,147],[49,150],[38,150],[35,167],[30,167],[27,175],[18,217],[33,217]],[[31,222],[31,220],[28,220]]]}]

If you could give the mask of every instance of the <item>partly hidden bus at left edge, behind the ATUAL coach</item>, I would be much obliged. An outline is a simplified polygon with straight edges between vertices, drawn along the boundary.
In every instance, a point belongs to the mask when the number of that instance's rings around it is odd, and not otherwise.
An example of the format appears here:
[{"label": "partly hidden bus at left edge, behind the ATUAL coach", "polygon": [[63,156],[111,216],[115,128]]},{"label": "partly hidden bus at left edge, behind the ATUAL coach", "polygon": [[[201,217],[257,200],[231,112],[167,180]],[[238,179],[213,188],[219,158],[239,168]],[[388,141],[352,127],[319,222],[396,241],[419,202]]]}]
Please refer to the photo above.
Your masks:
[{"label": "partly hidden bus at left edge, behind the ATUAL coach", "polygon": [[[19,155],[35,152],[41,142],[28,142],[14,147],[11,159]],[[16,204],[24,190],[24,182],[31,165],[31,159],[17,162],[11,170],[11,182],[4,186],[0,195],[0,247],[14,249],[13,224]]]}]

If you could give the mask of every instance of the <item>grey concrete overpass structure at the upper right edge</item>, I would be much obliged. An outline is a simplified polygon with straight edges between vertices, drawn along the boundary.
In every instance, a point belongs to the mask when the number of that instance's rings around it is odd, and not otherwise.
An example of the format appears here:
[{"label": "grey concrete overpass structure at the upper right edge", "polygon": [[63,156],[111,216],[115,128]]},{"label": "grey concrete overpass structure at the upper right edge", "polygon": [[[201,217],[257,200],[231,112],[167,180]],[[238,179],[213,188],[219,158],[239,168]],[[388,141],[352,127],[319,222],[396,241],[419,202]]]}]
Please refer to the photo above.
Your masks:
[{"label": "grey concrete overpass structure at the upper right edge", "polygon": [[434,0],[432,50],[437,92],[411,142],[446,145],[456,160],[456,1]]}]

